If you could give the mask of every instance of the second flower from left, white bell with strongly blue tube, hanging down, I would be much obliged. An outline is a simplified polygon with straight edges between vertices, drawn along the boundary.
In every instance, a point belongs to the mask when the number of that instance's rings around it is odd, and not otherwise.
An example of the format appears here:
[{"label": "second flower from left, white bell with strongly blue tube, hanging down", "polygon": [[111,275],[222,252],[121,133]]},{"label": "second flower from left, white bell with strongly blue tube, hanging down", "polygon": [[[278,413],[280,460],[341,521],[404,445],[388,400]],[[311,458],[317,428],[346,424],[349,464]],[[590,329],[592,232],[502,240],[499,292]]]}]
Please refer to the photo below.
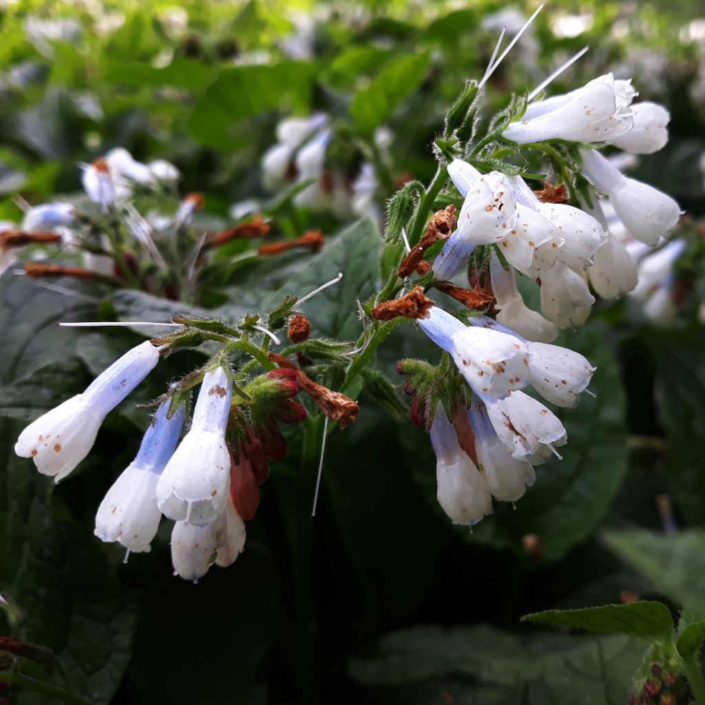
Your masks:
[{"label": "second flower from left, white bell with strongly blue tube, hanging down", "polygon": [[149,551],[157,535],[161,511],[157,506],[159,475],[176,449],[186,412],[180,405],[168,418],[171,399],[164,401],[149,424],[137,457],[116,479],[95,517],[95,535],[118,541],[128,551]]}]

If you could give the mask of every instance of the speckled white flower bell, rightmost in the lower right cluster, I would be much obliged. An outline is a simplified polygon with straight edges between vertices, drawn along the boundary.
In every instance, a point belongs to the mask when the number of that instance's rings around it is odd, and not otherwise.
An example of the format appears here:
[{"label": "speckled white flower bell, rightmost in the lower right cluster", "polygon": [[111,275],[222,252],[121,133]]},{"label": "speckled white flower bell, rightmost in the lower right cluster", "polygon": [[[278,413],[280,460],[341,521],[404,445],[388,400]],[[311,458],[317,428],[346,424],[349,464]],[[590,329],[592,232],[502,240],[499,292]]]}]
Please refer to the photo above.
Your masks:
[{"label": "speckled white flower bell, rightmost in the lower right cluster", "polygon": [[529,343],[529,379],[541,396],[556,406],[577,406],[595,367],[583,355],[560,345]]}]

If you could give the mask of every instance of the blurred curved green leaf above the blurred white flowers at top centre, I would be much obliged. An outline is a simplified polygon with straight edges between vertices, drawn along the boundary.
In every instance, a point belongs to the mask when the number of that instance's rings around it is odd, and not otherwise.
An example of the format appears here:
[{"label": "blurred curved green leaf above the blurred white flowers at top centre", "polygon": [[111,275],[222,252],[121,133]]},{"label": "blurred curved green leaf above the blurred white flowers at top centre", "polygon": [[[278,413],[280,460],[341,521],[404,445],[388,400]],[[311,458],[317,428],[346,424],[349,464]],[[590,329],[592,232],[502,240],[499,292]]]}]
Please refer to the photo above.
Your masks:
[{"label": "blurred curved green leaf above the blurred white flowers at top centre", "polygon": [[238,144],[238,121],[307,106],[314,76],[314,64],[306,61],[225,68],[196,102],[189,131],[207,147],[227,149]]}]

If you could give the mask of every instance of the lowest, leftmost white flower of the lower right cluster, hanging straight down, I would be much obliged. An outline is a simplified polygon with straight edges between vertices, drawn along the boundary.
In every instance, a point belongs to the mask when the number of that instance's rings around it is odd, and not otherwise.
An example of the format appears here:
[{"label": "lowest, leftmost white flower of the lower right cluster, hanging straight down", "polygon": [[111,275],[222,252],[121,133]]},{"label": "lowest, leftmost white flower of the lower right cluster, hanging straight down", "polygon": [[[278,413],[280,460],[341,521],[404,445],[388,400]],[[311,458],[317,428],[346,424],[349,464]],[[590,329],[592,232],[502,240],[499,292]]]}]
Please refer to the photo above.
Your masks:
[{"label": "lowest, leftmost white flower of the lower right cluster, hanging straight down", "polygon": [[431,426],[436,453],[438,501],[453,524],[473,525],[492,513],[492,495],[483,475],[460,448],[453,424],[442,408]]}]

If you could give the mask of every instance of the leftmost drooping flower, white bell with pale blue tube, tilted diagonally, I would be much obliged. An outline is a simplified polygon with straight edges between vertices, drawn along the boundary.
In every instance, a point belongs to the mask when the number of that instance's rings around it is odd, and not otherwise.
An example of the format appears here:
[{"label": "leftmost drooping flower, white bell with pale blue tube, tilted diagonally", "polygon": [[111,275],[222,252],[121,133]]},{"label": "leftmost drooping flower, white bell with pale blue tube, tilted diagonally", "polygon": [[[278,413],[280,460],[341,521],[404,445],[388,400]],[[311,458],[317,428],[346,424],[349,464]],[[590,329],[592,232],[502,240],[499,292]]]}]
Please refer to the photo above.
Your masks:
[{"label": "leftmost drooping flower, white bell with pale blue tube, tilted diagonally", "polygon": [[103,419],[145,379],[159,362],[149,341],[137,345],[77,394],[33,421],[22,431],[15,453],[32,458],[37,470],[56,482],[90,452]]}]

